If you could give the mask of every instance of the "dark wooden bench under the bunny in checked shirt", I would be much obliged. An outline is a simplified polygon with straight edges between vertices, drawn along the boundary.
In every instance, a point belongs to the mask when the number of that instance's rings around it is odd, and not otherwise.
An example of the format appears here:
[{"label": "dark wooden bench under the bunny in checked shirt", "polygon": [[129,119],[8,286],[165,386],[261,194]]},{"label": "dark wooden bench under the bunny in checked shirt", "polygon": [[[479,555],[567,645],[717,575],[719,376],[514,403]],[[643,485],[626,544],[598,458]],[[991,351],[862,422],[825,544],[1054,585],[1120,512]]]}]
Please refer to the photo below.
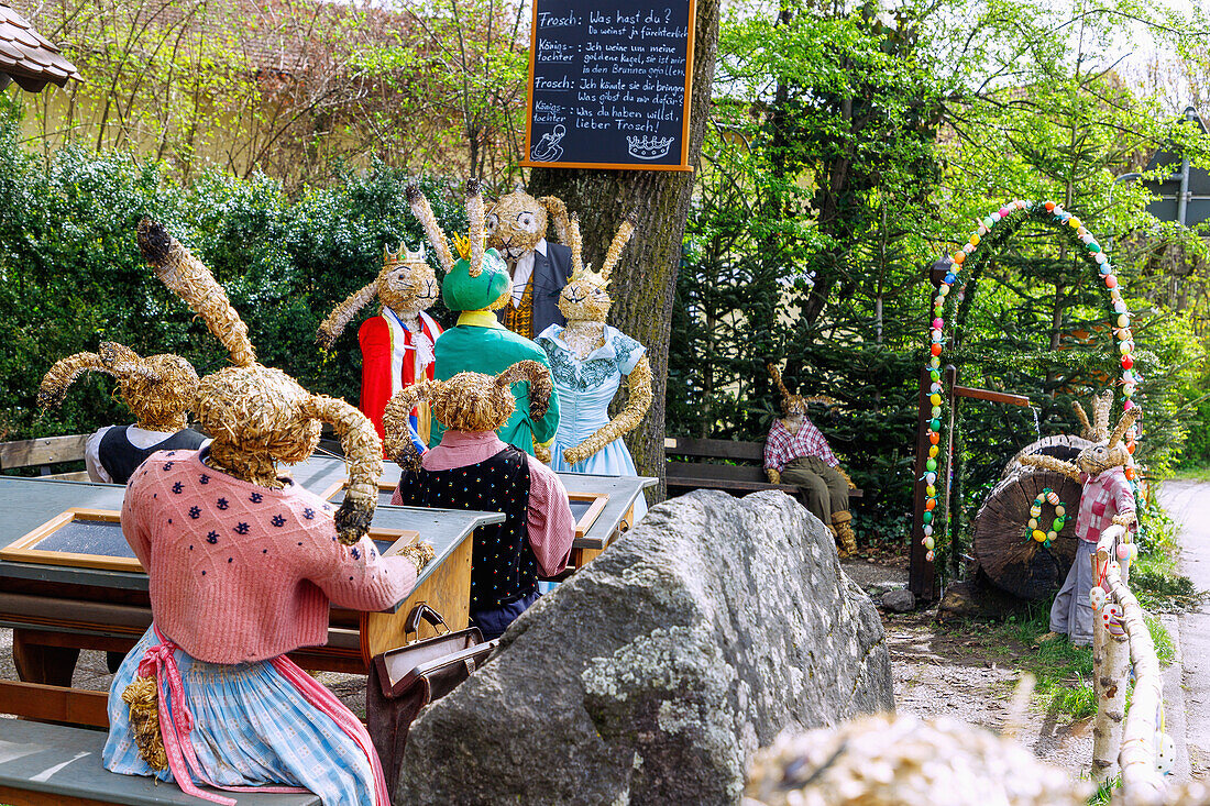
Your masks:
[{"label": "dark wooden bench under the bunny in checked shirt", "polygon": [[[793,484],[770,484],[765,476],[765,443],[733,439],[664,439],[664,456],[682,456],[696,461],[673,461],[664,465],[668,495],[690,490],[724,490],[732,495],[748,495],[760,490],[782,490],[797,495]],[[848,497],[862,497],[862,490],[849,490]]]}]

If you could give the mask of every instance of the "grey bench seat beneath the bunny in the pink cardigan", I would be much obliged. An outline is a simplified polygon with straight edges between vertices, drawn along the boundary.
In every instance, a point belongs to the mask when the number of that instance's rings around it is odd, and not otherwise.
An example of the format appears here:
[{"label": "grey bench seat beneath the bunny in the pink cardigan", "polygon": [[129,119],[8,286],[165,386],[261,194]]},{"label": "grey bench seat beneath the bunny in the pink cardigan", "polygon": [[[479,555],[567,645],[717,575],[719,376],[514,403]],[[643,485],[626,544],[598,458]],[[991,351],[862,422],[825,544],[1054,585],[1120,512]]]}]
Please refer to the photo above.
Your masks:
[{"label": "grey bench seat beneath the bunny in the pink cardigan", "polygon": [[[175,784],[122,776],[100,764],[104,731],[0,718],[0,802],[13,806],[196,806]],[[213,791],[213,790],[208,790]],[[321,806],[298,795],[221,793],[240,806]]]}]

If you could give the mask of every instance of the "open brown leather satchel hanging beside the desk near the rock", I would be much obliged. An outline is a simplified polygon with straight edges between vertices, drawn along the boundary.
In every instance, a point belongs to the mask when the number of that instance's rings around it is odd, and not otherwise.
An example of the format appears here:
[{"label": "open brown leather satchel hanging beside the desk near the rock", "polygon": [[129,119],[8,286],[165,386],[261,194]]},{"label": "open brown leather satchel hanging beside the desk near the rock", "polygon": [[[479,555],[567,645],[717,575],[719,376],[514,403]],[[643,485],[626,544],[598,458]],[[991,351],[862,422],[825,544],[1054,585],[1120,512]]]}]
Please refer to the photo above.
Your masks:
[{"label": "open brown leather satchel hanging beside the desk near the rock", "polygon": [[424,603],[408,614],[405,638],[416,634],[421,620],[444,632],[375,656],[365,686],[365,726],[382,762],[387,791],[394,791],[408,730],[420,709],[471,677],[500,643],[484,641],[478,627],[451,632],[440,614]]}]

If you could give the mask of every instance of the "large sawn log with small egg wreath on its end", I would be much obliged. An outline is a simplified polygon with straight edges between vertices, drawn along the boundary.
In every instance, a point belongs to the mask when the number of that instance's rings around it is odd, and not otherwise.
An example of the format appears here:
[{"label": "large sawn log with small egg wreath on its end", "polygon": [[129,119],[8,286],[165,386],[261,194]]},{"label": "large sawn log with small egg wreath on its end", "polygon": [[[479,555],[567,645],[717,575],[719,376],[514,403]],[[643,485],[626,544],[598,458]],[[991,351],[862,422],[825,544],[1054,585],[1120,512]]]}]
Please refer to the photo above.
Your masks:
[{"label": "large sawn log with small egg wreath on its end", "polygon": [[[1077,437],[1078,439],[1078,437]],[[1049,548],[1026,539],[1030,507],[1042,490],[1059,494],[1068,519]],[[1062,585],[1076,557],[1076,513],[1082,487],[1051,471],[1021,467],[987,495],[973,524],[973,553],[987,578],[1022,599],[1043,599]],[[1042,505],[1038,519],[1049,531],[1054,507]]]}]

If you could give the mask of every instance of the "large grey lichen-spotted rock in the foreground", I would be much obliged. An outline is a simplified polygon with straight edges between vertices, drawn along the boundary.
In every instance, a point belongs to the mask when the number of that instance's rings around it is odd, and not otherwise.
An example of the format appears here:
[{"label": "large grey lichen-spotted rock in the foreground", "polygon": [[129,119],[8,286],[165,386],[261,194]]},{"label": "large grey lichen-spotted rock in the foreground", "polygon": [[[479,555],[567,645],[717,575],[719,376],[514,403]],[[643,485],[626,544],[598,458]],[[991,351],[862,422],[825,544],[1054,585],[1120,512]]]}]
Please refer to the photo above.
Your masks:
[{"label": "large grey lichen-spotted rock in the foreground", "polygon": [[397,804],[737,804],[786,726],[894,707],[874,603],[782,493],[699,490],[543,597],[413,724]]}]

